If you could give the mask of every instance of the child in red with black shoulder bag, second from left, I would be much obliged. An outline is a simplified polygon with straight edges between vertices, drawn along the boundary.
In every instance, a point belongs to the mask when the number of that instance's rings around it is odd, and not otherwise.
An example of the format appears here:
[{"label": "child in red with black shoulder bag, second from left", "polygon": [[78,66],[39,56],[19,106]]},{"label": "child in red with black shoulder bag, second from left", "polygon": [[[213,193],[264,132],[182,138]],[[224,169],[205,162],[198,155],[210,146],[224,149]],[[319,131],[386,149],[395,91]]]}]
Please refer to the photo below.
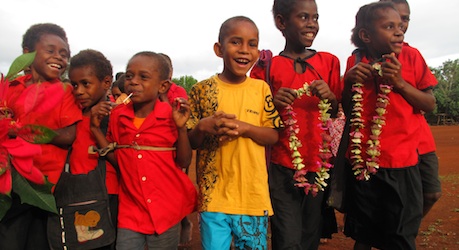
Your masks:
[{"label": "child in red with black shoulder bag, second from left", "polygon": [[[88,148],[97,144],[90,131],[91,108],[101,101],[106,101],[112,83],[112,73],[110,61],[99,51],[91,49],[80,51],[70,61],[69,77],[73,94],[83,111],[83,120],[77,124],[78,136],[73,142],[70,155],[70,171],[73,174],[87,174],[97,166],[98,157],[88,154]],[[110,163],[106,164],[105,184],[109,194],[112,222],[116,227],[118,176]]]}]

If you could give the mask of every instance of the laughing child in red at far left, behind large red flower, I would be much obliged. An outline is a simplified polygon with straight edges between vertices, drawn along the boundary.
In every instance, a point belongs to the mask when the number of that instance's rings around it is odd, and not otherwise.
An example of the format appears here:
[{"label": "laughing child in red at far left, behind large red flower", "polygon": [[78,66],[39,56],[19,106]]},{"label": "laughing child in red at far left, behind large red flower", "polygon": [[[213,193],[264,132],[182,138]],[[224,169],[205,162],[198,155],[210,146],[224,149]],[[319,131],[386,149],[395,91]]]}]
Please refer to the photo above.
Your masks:
[{"label": "laughing child in red at far left, behind large red flower", "polygon": [[[55,130],[58,135],[49,144],[42,144],[41,155],[33,159],[35,167],[55,184],[63,170],[67,148],[75,139],[76,123],[81,111],[75,104],[72,87],[60,81],[70,57],[65,31],[52,23],[32,25],[24,34],[24,53],[36,52],[30,73],[11,82],[7,106],[14,119],[25,124],[39,124]],[[30,95],[33,93],[34,95]],[[42,98],[40,98],[42,97]],[[52,108],[40,106],[51,100]],[[34,107],[28,112],[32,100]],[[21,204],[12,193],[13,205],[0,222],[0,249],[49,249],[46,236],[48,213],[28,204]]]}]

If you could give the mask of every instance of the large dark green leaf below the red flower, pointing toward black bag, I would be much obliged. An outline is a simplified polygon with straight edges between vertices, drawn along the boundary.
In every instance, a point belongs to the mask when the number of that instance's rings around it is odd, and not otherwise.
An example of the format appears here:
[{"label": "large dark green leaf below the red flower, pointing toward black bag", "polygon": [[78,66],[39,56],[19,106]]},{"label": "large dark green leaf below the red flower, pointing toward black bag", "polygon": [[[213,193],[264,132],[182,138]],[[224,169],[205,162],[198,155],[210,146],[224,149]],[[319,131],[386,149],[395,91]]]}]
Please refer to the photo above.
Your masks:
[{"label": "large dark green leaf below the red flower, pointing toward black bag", "polygon": [[57,213],[56,200],[51,193],[51,184],[48,179],[44,185],[30,183],[14,168],[11,168],[13,177],[13,191],[19,195],[22,203],[27,203],[40,209]]}]

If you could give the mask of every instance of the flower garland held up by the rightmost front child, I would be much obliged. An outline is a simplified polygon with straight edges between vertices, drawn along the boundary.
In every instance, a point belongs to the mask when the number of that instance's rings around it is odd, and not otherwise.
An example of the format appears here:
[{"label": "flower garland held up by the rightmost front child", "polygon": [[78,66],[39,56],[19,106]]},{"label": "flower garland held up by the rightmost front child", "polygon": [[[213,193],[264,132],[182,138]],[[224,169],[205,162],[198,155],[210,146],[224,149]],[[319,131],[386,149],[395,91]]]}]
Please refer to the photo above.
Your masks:
[{"label": "flower garland held up by the rightmost front child", "polygon": [[[379,76],[382,76],[381,64],[373,64],[373,69],[376,70]],[[363,84],[354,83],[352,84],[352,101],[354,106],[351,113],[351,125],[353,130],[349,133],[351,136],[351,163],[352,170],[357,180],[369,180],[370,174],[376,174],[379,169],[379,156],[381,155],[381,144],[380,135],[382,133],[382,127],[386,124],[386,107],[389,105],[388,94],[392,91],[392,86],[387,84],[379,84],[379,94],[376,99],[375,112],[376,115],[372,118],[371,135],[367,140],[366,144],[368,148],[366,153],[368,158],[366,161],[362,158],[362,140],[364,135],[361,130],[365,127],[362,119],[363,112]]]}]

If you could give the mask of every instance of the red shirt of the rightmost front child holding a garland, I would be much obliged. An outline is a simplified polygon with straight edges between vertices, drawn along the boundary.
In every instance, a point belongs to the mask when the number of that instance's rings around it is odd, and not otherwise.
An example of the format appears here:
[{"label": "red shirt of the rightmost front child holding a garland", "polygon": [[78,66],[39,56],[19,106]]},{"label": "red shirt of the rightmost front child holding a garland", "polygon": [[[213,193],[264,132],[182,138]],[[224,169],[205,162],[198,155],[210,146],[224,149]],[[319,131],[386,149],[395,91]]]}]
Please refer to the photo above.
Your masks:
[{"label": "red shirt of the rightmost front child holding a garland", "polygon": [[[431,78],[425,74],[425,64],[419,63],[420,54],[417,50],[404,46],[397,56],[402,64],[403,79],[417,89],[423,90],[432,86]],[[362,62],[368,63],[366,57]],[[355,65],[355,55],[348,58],[346,72]],[[371,120],[376,114],[376,91],[375,82],[381,81],[382,78],[370,79],[364,83],[363,89],[363,112],[364,134],[362,140],[362,158],[368,158],[366,155],[366,141],[370,135]],[[419,145],[419,128],[420,117],[416,114],[411,106],[402,95],[392,91],[388,95],[390,104],[386,111],[386,125],[382,127],[380,135],[381,142],[381,168],[403,168],[414,166],[418,162],[417,148]]]}]

